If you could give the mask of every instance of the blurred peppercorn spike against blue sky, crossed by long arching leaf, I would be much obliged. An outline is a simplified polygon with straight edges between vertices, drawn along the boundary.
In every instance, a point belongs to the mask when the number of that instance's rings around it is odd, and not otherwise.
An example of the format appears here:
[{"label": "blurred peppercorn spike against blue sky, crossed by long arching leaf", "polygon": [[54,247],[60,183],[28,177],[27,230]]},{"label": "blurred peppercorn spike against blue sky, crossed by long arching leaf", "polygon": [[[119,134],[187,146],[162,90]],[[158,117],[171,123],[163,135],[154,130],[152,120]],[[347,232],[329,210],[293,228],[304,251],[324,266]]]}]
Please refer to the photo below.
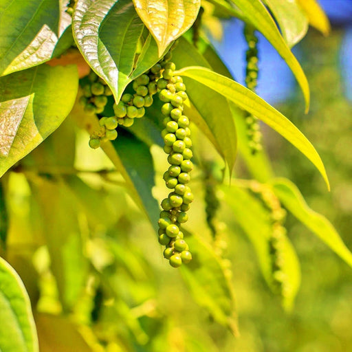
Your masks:
[{"label": "blurred peppercorn spike against blue sky, crossed by long arching leaf", "polygon": [[[248,44],[248,50],[245,52],[245,60],[247,62],[245,68],[245,85],[248,89],[255,92],[258,78],[258,49],[256,47],[258,38],[254,33],[254,28],[247,24],[244,28],[244,36]],[[245,116],[245,123],[247,125],[248,144],[252,154],[255,154],[262,149],[259,121],[254,115],[248,114]]]}]

